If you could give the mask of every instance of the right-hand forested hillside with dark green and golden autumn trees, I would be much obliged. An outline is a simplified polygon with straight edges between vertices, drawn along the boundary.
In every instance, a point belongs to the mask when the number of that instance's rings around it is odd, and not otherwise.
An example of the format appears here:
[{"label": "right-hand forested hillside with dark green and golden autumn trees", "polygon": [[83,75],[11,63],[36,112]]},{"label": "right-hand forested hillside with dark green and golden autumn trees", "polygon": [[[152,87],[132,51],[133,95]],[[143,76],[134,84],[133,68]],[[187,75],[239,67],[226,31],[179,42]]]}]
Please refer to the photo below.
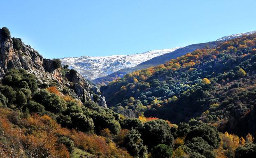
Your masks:
[{"label": "right-hand forested hillside with dark green and golden autumn trees", "polygon": [[255,136],[256,34],[126,74],[101,91],[116,111],[173,123],[197,118]]}]

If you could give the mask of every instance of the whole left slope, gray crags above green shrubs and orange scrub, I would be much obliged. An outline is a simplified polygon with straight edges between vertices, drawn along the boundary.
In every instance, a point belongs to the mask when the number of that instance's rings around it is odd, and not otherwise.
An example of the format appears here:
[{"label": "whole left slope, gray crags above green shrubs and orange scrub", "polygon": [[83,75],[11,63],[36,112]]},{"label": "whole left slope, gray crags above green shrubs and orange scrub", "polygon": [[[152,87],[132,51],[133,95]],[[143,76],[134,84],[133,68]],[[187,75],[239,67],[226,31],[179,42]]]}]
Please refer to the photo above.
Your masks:
[{"label": "whole left slope, gray crags above green shrubs and orange scrub", "polygon": [[132,158],[99,136],[121,130],[103,100],[79,73],[0,29],[1,158]]}]

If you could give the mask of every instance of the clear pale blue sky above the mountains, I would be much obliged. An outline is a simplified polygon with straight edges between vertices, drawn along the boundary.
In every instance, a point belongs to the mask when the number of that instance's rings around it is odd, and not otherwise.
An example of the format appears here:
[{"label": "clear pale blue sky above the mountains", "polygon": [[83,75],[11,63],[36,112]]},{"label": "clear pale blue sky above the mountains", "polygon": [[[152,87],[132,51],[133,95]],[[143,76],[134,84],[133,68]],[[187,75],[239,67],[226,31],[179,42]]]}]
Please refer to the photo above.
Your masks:
[{"label": "clear pale blue sky above the mountains", "polygon": [[0,27],[45,58],[142,53],[256,30],[256,0],[1,0]]}]

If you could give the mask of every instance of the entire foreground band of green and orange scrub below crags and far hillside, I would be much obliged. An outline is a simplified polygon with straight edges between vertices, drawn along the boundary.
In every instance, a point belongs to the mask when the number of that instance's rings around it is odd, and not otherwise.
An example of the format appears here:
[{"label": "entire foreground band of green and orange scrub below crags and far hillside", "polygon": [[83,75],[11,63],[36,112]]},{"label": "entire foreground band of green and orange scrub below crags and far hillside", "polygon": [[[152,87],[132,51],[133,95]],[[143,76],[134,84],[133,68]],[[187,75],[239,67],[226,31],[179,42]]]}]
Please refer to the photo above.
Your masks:
[{"label": "entire foreground band of green and orange scrub below crags and far hillside", "polygon": [[[191,119],[125,118],[92,101],[81,103],[56,87],[39,89],[35,76],[12,69],[0,87],[0,153],[11,158],[182,158],[254,151],[253,137],[221,134]],[[77,152],[77,153],[75,153]]]}]

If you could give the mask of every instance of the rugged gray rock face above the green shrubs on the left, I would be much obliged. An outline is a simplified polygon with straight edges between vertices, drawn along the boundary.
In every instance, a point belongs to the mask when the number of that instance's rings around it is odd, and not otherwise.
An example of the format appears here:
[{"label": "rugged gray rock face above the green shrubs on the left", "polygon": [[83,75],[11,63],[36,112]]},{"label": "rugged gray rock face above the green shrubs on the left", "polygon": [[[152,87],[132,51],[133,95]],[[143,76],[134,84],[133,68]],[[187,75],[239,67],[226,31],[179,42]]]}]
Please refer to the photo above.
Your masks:
[{"label": "rugged gray rock face above the green shrubs on the left", "polygon": [[[5,75],[9,69],[26,69],[29,73],[37,77],[39,84],[56,85],[59,90],[68,89],[69,94],[81,100],[93,100],[91,89],[95,86],[91,85],[79,73],[66,74],[63,78],[61,69],[54,69],[53,62],[43,57],[33,48],[21,42],[21,49],[16,50],[11,38],[5,39],[1,35],[0,30],[0,78]],[[98,87],[97,87],[98,88]],[[96,93],[96,95],[98,95]],[[106,107],[105,98],[98,95],[99,105]]]}]

